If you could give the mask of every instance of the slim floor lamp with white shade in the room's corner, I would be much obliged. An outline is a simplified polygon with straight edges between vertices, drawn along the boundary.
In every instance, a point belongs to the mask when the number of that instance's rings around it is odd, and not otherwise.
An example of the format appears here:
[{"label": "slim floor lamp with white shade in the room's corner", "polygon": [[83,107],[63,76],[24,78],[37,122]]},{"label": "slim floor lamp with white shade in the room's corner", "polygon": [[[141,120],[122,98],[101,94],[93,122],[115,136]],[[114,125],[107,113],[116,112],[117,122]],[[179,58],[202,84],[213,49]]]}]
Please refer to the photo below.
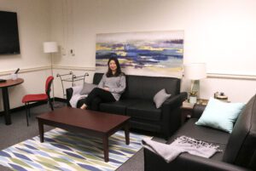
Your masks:
[{"label": "slim floor lamp with white shade in the room's corner", "polygon": [[[55,42],[45,42],[44,43],[44,53],[50,54],[50,71],[51,75],[53,75],[53,67],[52,67],[52,55],[58,52],[58,45]],[[55,105],[55,86],[54,83],[52,84],[52,94],[53,94],[53,104]]]}]

